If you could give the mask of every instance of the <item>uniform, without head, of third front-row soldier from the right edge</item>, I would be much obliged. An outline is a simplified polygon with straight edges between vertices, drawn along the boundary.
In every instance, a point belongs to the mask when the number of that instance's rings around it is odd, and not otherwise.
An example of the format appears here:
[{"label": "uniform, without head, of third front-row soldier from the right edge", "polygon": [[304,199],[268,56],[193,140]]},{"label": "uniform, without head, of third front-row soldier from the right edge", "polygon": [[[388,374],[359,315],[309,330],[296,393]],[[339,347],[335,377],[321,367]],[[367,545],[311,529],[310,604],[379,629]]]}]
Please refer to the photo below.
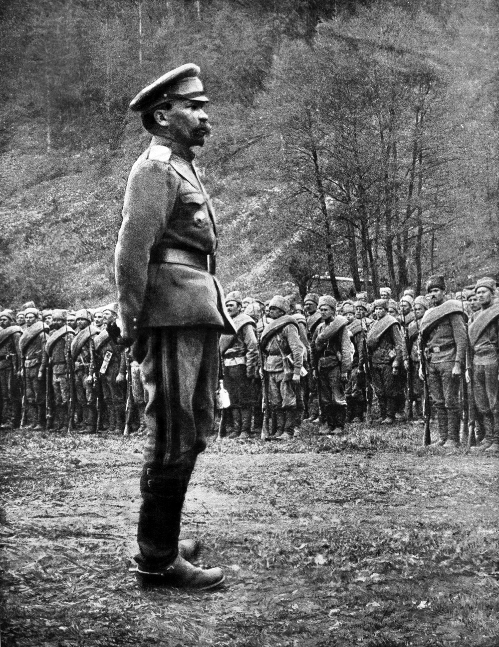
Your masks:
[{"label": "uniform, without head, of third front-row soldier from the right edge", "polygon": [[393,420],[399,394],[398,375],[405,353],[399,322],[391,314],[377,319],[366,337],[370,357],[372,386],[379,404],[381,419]]}]

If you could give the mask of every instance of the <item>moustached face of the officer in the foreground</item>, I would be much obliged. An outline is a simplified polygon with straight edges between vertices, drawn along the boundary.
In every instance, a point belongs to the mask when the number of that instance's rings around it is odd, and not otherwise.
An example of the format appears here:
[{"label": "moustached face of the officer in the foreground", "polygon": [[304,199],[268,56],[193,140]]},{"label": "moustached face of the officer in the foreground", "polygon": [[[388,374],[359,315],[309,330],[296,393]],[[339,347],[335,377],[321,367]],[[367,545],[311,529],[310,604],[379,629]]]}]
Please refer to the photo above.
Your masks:
[{"label": "moustached face of the officer in the foreground", "polygon": [[169,110],[154,111],[154,119],[168,129],[169,136],[186,146],[204,146],[204,138],[211,133],[208,116],[202,101],[173,101]]}]

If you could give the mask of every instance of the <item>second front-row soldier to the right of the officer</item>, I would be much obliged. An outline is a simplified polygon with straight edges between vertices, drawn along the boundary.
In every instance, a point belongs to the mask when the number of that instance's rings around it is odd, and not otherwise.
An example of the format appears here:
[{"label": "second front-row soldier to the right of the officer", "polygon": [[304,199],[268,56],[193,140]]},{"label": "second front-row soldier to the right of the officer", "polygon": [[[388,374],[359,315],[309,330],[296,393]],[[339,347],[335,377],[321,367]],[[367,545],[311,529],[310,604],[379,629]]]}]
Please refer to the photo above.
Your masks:
[{"label": "second front-row soldier to the right of the officer", "polygon": [[297,320],[288,313],[290,303],[274,296],[269,318],[262,333],[263,370],[268,375],[270,435],[280,440],[293,438],[296,424],[296,388],[303,366],[303,344]]}]

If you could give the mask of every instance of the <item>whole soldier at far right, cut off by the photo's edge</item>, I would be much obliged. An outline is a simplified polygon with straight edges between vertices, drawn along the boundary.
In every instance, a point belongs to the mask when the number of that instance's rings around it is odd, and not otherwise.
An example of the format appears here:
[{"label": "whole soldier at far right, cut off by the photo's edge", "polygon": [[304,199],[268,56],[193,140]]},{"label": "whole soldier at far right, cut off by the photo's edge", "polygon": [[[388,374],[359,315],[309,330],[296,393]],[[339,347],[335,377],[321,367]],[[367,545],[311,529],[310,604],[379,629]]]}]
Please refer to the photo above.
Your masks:
[{"label": "whole soldier at far right, cut off by the photo's edge", "polygon": [[499,453],[499,302],[494,301],[496,282],[485,276],[476,283],[481,312],[469,327],[473,358],[473,392],[476,413],[485,435],[476,451]]}]

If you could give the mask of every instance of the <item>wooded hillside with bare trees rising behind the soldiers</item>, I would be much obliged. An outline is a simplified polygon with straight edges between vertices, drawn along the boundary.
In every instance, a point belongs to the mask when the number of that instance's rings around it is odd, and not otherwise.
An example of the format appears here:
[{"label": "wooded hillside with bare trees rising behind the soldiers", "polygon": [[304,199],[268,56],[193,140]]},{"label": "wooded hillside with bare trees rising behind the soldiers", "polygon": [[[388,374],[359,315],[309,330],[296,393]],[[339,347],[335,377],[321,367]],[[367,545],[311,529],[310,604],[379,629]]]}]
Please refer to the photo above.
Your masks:
[{"label": "wooded hillside with bare trees rising behind the soldiers", "polygon": [[[127,109],[195,62],[218,275],[269,296],[350,276],[462,285],[499,250],[495,0],[17,0],[0,27],[0,303],[114,294]],[[451,283],[452,286],[452,283]],[[339,296],[332,281],[330,291]]]}]

